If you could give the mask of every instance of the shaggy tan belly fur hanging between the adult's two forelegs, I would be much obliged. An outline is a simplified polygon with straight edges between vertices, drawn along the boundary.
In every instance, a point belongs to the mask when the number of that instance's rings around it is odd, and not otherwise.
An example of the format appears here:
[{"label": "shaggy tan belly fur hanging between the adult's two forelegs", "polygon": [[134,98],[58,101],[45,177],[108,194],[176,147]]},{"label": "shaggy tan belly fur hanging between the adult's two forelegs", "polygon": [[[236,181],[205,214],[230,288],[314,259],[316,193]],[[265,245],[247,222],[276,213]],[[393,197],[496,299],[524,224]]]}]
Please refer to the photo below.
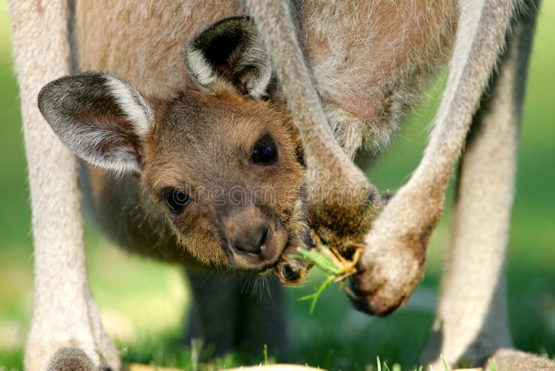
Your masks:
[{"label": "shaggy tan belly fur hanging between the adult's two forelegs", "polygon": [[385,149],[450,55],[456,2],[305,1],[300,8],[300,42],[339,143],[351,157],[361,146]]}]

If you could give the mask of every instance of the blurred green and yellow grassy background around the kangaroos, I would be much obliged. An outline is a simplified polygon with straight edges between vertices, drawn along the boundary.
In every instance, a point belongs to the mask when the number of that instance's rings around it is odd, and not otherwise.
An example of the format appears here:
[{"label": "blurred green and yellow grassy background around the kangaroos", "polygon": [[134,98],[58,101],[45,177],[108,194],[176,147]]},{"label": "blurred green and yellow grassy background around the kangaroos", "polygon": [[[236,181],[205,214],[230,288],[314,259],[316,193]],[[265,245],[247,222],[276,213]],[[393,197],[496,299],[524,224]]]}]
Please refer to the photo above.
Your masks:
[{"label": "blurred green and yellow grassy background around the kangaroos", "polygon": [[[555,352],[555,1],[544,1],[531,65],[518,188],[509,246],[509,314],[519,349]],[[371,170],[379,189],[395,190],[416,167],[429,133],[441,82],[413,113],[391,149]],[[452,190],[450,191],[452,195]],[[448,242],[451,199],[429,245],[426,276],[413,298],[387,318],[353,311],[343,292],[328,290],[308,315],[296,298],[312,290],[287,289],[293,361],[332,370],[364,370],[380,356],[389,364],[416,365],[434,319],[436,292]],[[17,84],[10,51],[6,3],[0,0],[0,369],[22,368],[32,314],[33,246],[26,163]],[[179,267],[130,256],[87,229],[89,274],[103,322],[126,361],[189,368],[191,354],[180,340],[189,290]],[[456,303],[454,303],[456,305]],[[271,352],[271,349],[270,349]],[[230,354],[215,365],[259,363]]]}]

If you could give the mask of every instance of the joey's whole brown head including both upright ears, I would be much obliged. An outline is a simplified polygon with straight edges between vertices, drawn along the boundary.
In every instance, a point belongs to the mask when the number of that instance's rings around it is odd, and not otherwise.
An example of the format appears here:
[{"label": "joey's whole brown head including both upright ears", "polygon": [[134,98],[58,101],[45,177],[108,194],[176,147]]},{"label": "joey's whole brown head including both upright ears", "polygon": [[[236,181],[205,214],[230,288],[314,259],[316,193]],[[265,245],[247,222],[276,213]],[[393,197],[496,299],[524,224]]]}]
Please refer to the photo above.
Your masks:
[{"label": "joey's whole brown head including both upright ears", "polygon": [[253,24],[216,26],[187,47],[195,89],[144,97],[119,76],[84,72],[44,86],[39,108],[78,156],[135,174],[199,261],[276,268],[282,281],[296,281],[280,264],[307,244],[298,133],[268,101],[272,68]]}]

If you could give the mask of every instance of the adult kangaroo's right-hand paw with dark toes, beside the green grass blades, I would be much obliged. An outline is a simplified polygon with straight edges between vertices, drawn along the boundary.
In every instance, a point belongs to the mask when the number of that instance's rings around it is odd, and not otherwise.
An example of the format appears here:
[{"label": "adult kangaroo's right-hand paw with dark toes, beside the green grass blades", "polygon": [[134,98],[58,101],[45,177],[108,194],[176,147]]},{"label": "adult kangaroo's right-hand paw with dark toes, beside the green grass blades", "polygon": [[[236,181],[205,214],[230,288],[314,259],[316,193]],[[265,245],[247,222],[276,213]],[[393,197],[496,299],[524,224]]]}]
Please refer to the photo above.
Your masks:
[{"label": "adult kangaroo's right-hand paw with dark toes, beside the green grass blades", "polygon": [[407,217],[407,202],[398,200],[391,199],[364,236],[357,274],[347,290],[355,308],[372,315],[387,315],[407,302],[424,275],[427,242],[441,215],[436,207],[422,212],[424,217]]}]

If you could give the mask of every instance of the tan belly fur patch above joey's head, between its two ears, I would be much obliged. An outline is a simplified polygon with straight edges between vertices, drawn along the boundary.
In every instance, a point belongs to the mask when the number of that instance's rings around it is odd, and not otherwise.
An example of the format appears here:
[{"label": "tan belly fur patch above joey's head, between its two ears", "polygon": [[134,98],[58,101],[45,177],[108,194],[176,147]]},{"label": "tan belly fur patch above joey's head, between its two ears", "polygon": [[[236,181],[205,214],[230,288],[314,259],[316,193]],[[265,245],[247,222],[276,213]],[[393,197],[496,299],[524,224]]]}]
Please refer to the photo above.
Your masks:
[{"label": "tan belly fur patch above joey's head, between its two ears", "polygon": [[[110,11],[107,12],[106,10]],[[237,1],[76,1],[79,69],[110,71],[147,97],[164,99],[191,88],[183,51],[201,29],[241,14]],[[133,45],[133,47],[129,47]]]}]

